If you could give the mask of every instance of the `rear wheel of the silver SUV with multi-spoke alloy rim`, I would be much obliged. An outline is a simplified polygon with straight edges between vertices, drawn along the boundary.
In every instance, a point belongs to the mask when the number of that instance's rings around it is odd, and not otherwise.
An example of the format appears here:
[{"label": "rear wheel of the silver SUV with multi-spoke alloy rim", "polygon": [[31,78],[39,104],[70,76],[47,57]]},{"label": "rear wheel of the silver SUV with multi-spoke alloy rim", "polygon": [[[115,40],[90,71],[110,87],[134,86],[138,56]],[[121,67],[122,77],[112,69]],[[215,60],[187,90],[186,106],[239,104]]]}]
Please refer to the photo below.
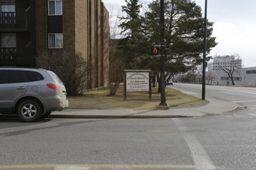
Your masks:
[{"label": "rear wheel of the silver SUV with multi-spoke alloy rim", "polygon": [[19,104],[17,114],[22,121],[36,121],[41,117],[42,107],[35,100],[24,100]]}]

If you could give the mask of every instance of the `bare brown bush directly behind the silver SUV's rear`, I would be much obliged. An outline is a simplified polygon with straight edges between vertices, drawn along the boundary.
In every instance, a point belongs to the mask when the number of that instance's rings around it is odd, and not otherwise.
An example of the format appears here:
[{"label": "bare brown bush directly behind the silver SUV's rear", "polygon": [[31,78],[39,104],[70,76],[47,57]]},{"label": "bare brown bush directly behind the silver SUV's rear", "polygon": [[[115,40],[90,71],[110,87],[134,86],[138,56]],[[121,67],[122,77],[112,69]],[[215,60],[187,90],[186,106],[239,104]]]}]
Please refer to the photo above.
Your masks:
[{"label": "bare brown bush directly behind the silver SUV's rear", "polygon": [[54,49],[40,54],[36,58],[36,66],[56,73],[64,82],[69,96],[79,96],[88,88],[88,64],[81,53],[70,55]]}]

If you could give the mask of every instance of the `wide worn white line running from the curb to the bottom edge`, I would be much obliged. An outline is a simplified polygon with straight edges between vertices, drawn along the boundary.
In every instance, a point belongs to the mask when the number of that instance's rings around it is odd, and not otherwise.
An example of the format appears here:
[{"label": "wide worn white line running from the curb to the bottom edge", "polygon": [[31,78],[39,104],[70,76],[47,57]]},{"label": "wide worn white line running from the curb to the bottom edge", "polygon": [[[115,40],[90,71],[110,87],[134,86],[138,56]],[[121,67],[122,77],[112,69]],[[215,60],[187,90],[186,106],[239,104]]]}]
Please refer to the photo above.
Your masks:
[{"label": "wide worn white line running from the curb to the bottom edge", "polygon": [[195,138],[194,134],[189,132],[189,128],[187,128],[178,118],[172,120],[175,122],[178,130],[181,131],[183,138],[189,146],[196,169],[204,170],[205,168],[202,167],[207,167],[207,169],[210,170],[216,169],[200,142]]}]

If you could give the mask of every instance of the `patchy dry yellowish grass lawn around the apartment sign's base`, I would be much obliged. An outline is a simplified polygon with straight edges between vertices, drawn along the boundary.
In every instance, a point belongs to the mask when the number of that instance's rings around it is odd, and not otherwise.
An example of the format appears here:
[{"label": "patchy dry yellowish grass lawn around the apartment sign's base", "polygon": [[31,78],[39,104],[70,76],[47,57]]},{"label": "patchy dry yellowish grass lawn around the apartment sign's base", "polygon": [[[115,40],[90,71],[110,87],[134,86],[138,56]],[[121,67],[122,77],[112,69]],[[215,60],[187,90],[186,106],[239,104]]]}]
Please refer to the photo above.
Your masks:
[{"label": "patchy dry yellowish grass lawn around the apartment sign's base", "polygon": [[[181,93],[178,90],[166,87],[166,103],[170,107],[188,108],[199,107],[208,104],[208,101]],[[68,97],[69,108],[72,109],[132,109],[132,110],[156,110],[161,101],[161,94],[157,93],[157,87],[152,88],[152,97],[149,100],[148,92],[127,93],[123,100],[123,86],[120,86],[113,97],[108,97],[109,87],[99,90],[87,91],[81,97]]]}]

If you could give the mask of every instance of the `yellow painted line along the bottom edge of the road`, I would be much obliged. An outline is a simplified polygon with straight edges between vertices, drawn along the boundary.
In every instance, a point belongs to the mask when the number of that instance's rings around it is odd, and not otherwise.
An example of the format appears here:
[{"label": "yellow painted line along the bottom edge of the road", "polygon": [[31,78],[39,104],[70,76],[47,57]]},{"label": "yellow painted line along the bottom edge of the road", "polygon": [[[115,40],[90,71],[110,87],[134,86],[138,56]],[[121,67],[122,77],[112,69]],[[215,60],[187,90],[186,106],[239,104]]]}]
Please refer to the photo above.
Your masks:
[{"label": "yellow painted line along the bottom edge of the road", "polygon": [[[60,167],[60,168],[58,168]],[[205,165],[0,165],[1,168],[6,168],[6,169],[12,169],[12,168],[56,168],[54,170],[89,170],[90,168],[115,168],[115,169],[120,169],[120,168],[154,168],[154,169],[203,169],[203,170],[212,170],[213,168],[209,168],[209,166]],[[83,168],[83,169],[82,169]]]}]

